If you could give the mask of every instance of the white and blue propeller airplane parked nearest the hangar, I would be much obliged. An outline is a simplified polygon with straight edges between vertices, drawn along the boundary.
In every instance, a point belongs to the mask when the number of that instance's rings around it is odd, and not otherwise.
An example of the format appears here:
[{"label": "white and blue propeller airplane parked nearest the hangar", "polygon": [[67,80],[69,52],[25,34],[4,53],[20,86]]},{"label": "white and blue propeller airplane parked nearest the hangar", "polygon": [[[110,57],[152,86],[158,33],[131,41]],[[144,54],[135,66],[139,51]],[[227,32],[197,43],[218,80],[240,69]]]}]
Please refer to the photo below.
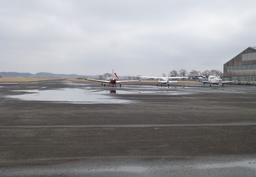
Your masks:
[{"label": "white and blue propeller airplane parked nearest the hangar", "polygon": [[[199,77],[199,80],[197,82],[202,82],[204,84],[208,83],[210,84],[210,87],[211,85],[220,85],[221,87],[223,87],[224,83],[237,82],[237,81],[223,81],[223,77],[226,77],[226,76],[204,76],[203,75],[203,76],[192,76],[192,77]],[[208,77],[208,80],[200,79],[200,78],[206,78],[206,77]]]}]

